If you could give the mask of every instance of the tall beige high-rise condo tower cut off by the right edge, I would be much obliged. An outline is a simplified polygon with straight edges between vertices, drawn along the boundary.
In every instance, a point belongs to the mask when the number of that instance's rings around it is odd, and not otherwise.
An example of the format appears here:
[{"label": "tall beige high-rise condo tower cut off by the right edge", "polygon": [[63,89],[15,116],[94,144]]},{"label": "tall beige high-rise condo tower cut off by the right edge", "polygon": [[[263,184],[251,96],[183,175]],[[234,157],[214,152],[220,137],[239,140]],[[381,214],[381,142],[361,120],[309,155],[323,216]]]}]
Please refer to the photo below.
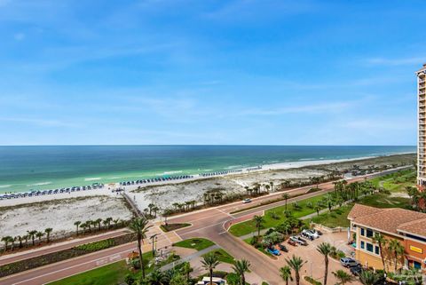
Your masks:
[{"label": "tall beige high-rise condo tower cut off by the right edge", "polygon": [[426,63],[416,72],[418,98],[417,185],[426,186]]}]

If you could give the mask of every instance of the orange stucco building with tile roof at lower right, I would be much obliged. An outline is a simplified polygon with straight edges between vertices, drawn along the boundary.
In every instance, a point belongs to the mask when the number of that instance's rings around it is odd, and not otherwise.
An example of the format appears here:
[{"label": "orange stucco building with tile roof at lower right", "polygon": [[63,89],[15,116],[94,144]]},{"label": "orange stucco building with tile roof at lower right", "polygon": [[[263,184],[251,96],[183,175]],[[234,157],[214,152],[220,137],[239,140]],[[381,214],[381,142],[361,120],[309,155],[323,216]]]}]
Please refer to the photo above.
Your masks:
[{"label": "orange stucco building with tile roof at lower right", "polygon": [[[405,209],[378,209],[355,204],[348,215],[351,232],[356,234],[355,257],[361,265],[383,269],[382,252],[372,238],[381,234],[386,245],[383,257],[386,269],[418,268],[426,273],[426,214]],[[404,247],[404,254],[397,257],[388,249],[390,240],[397,240]]]}]

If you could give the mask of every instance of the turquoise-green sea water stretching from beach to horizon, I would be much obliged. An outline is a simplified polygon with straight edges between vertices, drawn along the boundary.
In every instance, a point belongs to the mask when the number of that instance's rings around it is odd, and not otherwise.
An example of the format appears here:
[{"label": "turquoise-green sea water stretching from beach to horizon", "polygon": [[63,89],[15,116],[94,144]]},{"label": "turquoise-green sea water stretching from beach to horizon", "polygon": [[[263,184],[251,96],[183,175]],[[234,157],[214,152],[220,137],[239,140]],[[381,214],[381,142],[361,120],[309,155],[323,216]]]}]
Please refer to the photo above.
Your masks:
[{"label": "turquoise-green sea water stretching from beach to horizon", "polygon": [[0,146],[0,193],[415,151],[415,146]]}]

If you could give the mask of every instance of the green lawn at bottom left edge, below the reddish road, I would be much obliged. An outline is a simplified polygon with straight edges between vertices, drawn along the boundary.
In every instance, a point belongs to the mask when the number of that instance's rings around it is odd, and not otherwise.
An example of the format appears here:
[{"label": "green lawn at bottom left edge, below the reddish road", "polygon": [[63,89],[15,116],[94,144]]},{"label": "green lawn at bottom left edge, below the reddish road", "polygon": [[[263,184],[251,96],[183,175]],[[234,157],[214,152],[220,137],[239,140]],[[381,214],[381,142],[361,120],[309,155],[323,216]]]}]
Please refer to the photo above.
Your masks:
[{"label": "green lawn at bottom left edge, below the reddish road", "polygon": [[127,273],[129,273],[129,270],[126,262],[122,260],[66,279],[51,282],[49,285],[114,285],[124,281],[124,276]]}]

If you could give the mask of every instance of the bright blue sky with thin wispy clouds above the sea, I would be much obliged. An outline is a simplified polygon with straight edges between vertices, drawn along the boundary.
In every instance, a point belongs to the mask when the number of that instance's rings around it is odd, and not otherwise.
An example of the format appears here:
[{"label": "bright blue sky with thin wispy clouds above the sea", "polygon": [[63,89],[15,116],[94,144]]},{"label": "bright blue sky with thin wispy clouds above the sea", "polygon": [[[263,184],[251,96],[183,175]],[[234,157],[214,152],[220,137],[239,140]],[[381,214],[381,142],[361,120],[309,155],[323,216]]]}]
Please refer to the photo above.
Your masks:
[{"label": "bright blue sky with thin wispy clouds above the sea", "polygon": [[0,0],[0,145],[414,145],[425,11]]}]

